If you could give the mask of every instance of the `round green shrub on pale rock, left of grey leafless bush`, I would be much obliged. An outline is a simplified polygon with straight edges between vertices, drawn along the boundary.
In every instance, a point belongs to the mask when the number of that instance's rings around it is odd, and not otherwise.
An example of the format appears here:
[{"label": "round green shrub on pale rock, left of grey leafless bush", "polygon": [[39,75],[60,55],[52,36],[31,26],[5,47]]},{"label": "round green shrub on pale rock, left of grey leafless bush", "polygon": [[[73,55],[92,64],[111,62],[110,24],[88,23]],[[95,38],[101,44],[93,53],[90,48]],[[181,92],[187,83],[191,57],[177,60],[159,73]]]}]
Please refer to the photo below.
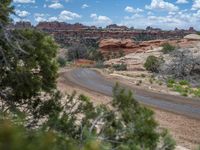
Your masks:
[{"label": "round green shrub on pale rock, left of grey leafless bush", "polygon": [[151,72],[159,72],[161,60],[153,55],[149,56],[144,64],[146,70]]}]

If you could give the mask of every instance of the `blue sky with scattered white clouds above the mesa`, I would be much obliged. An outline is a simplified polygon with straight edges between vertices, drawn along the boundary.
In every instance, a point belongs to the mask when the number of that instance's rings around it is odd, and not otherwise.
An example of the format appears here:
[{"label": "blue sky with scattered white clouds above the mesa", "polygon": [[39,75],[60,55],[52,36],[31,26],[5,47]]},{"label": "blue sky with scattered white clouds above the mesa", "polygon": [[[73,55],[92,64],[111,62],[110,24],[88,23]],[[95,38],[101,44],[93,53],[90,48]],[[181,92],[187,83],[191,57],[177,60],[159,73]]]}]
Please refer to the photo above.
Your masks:
[{"label": "blue sky with scattered white clouds above the mesa", "polygon": [[200,30],[200,0],[13,0],[16,21]]}]

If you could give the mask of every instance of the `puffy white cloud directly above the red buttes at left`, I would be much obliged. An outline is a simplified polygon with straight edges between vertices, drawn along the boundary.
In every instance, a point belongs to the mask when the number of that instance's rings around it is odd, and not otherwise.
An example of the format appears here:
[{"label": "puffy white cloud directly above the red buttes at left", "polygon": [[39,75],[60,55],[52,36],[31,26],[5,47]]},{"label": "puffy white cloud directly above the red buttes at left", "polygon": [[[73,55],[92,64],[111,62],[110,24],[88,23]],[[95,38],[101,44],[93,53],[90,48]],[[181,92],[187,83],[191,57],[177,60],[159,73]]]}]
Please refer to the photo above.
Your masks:
[{"label": "puffy white cloud directly above the red buttes at left", "polygon": [[81,18],[81,16],[77,13],[67,11],[67,10],[62,11],[58,16],[58,19],[60,21],[74,20],[77,18]]}]

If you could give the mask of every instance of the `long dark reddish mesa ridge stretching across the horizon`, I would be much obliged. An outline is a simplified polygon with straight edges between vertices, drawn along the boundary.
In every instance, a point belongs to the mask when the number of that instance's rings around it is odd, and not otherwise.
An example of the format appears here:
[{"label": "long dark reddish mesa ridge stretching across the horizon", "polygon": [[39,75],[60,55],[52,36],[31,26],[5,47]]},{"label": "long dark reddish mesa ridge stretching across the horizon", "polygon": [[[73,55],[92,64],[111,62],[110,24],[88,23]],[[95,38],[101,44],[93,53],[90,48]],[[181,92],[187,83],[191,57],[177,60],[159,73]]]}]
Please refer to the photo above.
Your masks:
[{"label": "long dark reddish mesa ridge stretching across the horizon", "polygon": [[[130,48],[135,45],[130,41],[123,43],[123,40],[149,41],[149,40],[173,40],[182,39],[188,34],[196,34],[193,27],[188,30],[178,29],[175,30],[162,30],[160,28],[153,28],[148,26],[146,29],[135,29],[134,27],[119,26],[117,24],[108,25],[105,28],[96,26],[87,26],[80,23],[69,24],[66,22],[39,22],[36,26],[31,25],[30,22],[17,22],[11,24],[9,28],[36,28],[53,35],[55,40],[62,45],[70,46],[73,43],[80,41],[84,44],[97,43],[101,40],[112,39],[111,47],[125,47]],[[119,41],[120,40],[120,41]],[[108,47],[110,41],[104,41],[104,47]],[[120,45],[120,46],[119,46]],[[102,46],[102,44],[100,44]]]}]

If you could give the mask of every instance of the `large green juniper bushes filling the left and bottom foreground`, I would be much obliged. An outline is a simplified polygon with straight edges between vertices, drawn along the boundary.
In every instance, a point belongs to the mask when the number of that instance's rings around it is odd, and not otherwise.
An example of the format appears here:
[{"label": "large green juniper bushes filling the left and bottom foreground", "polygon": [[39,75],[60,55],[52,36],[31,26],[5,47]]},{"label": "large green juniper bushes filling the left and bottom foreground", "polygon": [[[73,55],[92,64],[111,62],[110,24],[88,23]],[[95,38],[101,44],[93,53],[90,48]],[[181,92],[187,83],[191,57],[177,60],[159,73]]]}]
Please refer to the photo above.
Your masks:
[{"label": "large green juniper bushes filling the left and bottom foreground", "polygon": [[0,149],[174,149],[153,111],[118,85],[113,100],[96,107],[84,95],[62,95],[52,37],[7,30],[11,1],[0,10]]}]

